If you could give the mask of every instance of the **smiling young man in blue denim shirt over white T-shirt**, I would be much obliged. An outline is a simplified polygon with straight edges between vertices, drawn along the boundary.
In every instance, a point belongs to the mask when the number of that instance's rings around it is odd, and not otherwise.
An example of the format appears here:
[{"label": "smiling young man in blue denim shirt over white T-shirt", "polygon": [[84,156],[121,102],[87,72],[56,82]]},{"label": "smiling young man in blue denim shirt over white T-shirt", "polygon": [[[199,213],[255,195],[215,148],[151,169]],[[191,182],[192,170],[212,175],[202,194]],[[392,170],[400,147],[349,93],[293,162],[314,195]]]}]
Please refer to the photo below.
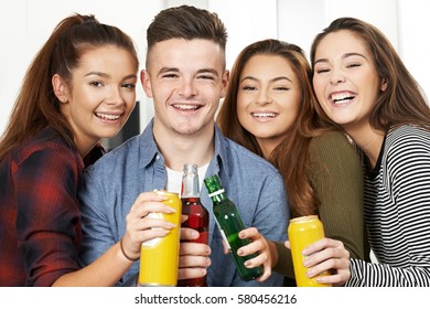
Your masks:
[{"label": "smiling young man in blue denim shirt over white T-shirt", "polygon": [[[223,22],[206,10],[187,6],[171,8],[155,17],[148,28],[147,40],[147,67],[141,81],[147,96],[153,99],[154,117],[140,136],[107,153],[87,172],[80,192],[85,233],[83,264],[89,264],[119,241],[126,220],[150,235],[153,230],[148,226],[153,219],[146,215],[160,201],[148,199],[148,192],[154,189],[180,192],[184,163],[198,166],[201,181],[212,174],[221,177],[245,226],[257,227],[266,238],[284,241],[289,209],[279,172],[226,139],[214,121],[228,83],[227,34]],[[205,188],[201,190],[201,200],[212,214],[212,201]],[[198,235],[189,228],[181,232],[181,237],[187,239]],[[265,245],[254,241],[248,249],[259,251]],[[130,263],[139,257],[139,252],[132,248],[123,251],[131,257]],[[181,243],[180,255],[182,279],[201,277],[207,268],[208,286],[282,284],[282,277],[277,274],[266,279],[269,269],[264,275],[266,280],[240,280],[233,258],[224,253],[214,220],[209,223],[209,247]],[[254,260],[264,262],[261,255]],[[135,263],[123,281],[138,270],[139,263]]]}]

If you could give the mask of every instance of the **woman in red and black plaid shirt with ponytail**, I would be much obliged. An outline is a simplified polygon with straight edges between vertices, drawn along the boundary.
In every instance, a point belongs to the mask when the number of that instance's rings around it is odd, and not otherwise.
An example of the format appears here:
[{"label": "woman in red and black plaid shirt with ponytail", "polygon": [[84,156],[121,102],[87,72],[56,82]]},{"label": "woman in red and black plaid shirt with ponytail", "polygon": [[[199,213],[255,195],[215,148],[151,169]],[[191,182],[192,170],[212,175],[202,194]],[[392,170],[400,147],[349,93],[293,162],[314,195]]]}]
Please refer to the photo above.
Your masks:
[{"label": "woman in red and black plaid shirt with ponytail", "polygon": [[158,221],[150,223],[165,228],[141,232],[146,213],[170,211],[143,195],[123,241],[78,267],[84,159],[100,157],[99,139],[129,117],[138,66],[128,35],[79,14],[64,19],[32,62],[0,142],[0,286],[114,285],[132,265],[130,252],[169,231]]}]

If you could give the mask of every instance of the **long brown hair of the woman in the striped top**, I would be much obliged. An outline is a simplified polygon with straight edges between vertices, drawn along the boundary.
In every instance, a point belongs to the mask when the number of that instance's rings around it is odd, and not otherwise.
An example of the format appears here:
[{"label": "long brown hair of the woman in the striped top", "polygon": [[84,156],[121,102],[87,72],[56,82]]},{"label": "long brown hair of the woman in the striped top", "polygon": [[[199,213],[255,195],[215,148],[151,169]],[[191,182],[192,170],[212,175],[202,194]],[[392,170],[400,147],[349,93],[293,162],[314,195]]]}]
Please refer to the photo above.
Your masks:
[{"label": "long brown hair of the woman in the striped top", "polygon": [[[312,43],[310,54],[312,67],[321,41],[329,33],[340,30],[351,31],[363,40],[373,56],[379,78],[387,82],[387,89],[380,92],[375,103],[370,126],[385,132],[402,125],[417,125],[430,129],[430,107],[422,89],[388,39],[374,25],[354,18],[334,20]],[[319,105],[316,108],[321,117],[329,119]]]}]

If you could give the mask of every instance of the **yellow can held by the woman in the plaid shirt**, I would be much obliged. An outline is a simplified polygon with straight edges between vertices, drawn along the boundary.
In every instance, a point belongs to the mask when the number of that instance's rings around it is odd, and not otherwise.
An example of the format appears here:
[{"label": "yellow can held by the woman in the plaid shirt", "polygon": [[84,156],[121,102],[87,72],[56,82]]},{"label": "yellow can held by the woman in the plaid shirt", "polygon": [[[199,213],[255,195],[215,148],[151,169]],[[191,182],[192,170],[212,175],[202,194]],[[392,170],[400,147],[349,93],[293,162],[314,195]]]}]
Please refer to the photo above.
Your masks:
[{"label": "yellow can held by the woman in the plaid shirt", "polygon": [[157,191],[168,196],[163,203],[175,213],[150,213],[151,217],[165,219],[176,225],[164,237],[142,243],[140,253],[139,285],[174,287],[178,284],[179,249],[182,203],[176,193]]}]

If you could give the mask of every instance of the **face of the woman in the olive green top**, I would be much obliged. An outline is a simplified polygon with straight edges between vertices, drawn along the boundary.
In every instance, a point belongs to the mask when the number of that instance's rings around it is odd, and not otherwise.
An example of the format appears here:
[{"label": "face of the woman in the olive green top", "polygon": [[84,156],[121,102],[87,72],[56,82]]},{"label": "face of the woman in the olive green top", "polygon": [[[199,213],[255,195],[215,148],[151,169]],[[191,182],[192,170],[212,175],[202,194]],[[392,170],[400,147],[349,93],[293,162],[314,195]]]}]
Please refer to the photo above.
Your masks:
[{"label": "face of the woman in the olive green top", "polygon": [[294,124],[301,103],[299,86],[282,56],[255,55],[246,63],[239,79],[237,115],[261,148],[275,149]]}]

